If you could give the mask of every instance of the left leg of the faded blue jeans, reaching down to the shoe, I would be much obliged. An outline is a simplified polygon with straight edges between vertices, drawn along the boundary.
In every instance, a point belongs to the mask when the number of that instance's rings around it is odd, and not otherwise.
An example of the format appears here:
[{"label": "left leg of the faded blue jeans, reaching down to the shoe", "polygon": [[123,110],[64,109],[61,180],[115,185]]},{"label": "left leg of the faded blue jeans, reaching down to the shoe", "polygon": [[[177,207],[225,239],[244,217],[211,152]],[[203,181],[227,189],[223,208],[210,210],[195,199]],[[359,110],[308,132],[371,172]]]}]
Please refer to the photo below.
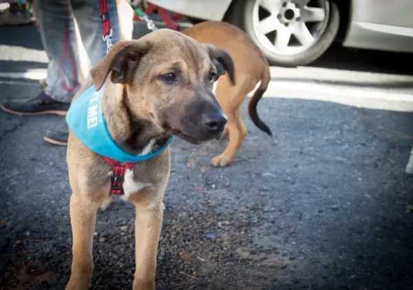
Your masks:
[{"label": "left leg of the faded blue jeans, reaching down to the shoe", "polygon": [[45,93],[54,100],[71,102],[81,87],[72,5],[70,0],[34,0],[33,6],[50,58]]}]

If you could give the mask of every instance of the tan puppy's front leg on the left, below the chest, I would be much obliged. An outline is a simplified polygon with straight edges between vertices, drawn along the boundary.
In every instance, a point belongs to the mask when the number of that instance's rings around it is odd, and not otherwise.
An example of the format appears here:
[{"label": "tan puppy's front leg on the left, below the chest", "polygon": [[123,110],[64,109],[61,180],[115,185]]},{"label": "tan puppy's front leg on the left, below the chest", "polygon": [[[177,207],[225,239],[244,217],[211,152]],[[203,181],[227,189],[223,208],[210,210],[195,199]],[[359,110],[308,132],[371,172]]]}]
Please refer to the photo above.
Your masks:
[{"label": "tan puppy's front leg on the left, below the chest", "polygon": [[87,197],[72,194],[70,197],[70,223],[72,223],[72,274],[66,290],[88,289],[93,271],[93,234],[98,206]]}]

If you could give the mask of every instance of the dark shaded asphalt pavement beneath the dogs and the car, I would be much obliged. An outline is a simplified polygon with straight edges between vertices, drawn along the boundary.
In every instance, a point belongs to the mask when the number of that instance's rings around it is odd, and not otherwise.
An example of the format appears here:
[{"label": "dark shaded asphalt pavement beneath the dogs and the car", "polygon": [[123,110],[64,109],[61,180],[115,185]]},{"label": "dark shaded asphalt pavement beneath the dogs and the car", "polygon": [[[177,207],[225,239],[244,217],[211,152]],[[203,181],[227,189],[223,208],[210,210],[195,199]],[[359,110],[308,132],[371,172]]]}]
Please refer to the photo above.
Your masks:
[{"label": "dark shaded asphalt pavement beneath the dogs and the car", "polygon": [[[46,67],[34,27],[0,35],[0,71]],[[333,68],[411,72],[394,67],[405,61],[395,54],[328,55],[320,62]],[[0,78],[1,101],[38,90]],[[158,289],[413,289],[404,173],[412,114],[279,98],[259,111],[277,146],[243,107],[248,137],[229,168],[208,166],[225,142],[173,141]],[[72,239],[65,148],[43,142],[62,118],[0,112],[0,122],[0,289],[63,289]],[[117,198],[98,214],[93,289],[131,288],[133,225],[132,205]]]}]

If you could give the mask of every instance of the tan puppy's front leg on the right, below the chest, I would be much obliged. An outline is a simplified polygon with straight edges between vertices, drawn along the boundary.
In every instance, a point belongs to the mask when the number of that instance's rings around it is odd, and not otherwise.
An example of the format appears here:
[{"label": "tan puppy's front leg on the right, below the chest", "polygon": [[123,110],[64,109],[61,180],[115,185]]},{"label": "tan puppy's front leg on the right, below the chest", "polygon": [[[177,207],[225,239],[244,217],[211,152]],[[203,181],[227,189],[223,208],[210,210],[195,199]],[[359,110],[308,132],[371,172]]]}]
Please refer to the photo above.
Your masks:
[{"label": "tan puppy's front leg on the right, below the chest", "polygon": [[154,290],[156,273],[156,254],[162,227],[164,205],[134,202],[136,272],[134,290]]}]

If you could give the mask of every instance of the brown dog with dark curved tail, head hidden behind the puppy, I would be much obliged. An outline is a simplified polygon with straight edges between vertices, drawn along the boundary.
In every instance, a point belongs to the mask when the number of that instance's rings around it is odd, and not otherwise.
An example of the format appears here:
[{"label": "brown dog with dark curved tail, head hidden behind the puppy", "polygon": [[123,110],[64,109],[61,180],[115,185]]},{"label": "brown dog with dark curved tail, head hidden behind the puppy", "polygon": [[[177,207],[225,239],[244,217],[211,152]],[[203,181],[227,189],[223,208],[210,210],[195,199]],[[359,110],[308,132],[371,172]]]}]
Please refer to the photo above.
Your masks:
[{"label": "brown dog with dark curved tail, head hidden behind the puppy", "polygon": [[236,85],[231,84],[228,76],[221,77],[216,87],[216,96],[222,110],[228,117],[228,123],[222,137],[229,135],[229,144],[224,153],[213,157],[213,166],[227,166],[234,160],[247,131],[241,118],[241,105],[246,95],[258,82],[260,87],[248,102],[248,115],[259,129],[273,137],[271,130],[257,114],[257,104],[270,82],[270,67],[260,49],[240,28],[225,22],[206,21],[182,31],[199,43],[211,43],[225,49],[233,59]]}]

